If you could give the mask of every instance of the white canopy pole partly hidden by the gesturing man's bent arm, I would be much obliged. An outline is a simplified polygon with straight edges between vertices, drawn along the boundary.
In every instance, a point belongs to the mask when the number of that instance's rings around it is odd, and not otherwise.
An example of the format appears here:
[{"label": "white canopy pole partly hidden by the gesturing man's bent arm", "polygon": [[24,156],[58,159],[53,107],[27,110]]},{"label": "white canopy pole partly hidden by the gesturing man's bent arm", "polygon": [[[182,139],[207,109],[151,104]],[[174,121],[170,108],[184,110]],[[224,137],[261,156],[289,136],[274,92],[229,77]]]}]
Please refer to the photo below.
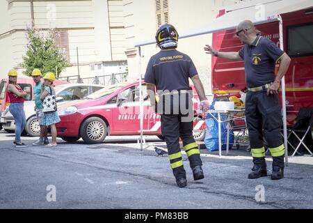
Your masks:
[{"label": "white canopy pole partly hidden by the gesturing man's bent arm", "polygon": [[[279,32],[280,32],[280,49],[284,50],[283,31],[282,31],[282,17],[278,15]],[[286,87],[284,77],[282,77],[282,123],[284,127],[284,160],[288,167],[288,140],[287,140],[287,112],[286,112]]]}]

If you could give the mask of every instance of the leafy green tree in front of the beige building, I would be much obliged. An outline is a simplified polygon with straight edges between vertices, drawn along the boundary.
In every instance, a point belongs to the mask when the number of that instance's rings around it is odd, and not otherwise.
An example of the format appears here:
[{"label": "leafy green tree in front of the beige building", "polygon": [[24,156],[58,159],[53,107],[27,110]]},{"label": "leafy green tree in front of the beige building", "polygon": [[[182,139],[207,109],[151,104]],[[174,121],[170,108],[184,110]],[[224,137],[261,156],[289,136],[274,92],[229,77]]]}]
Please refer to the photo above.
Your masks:
[{"label": "leafy green tree in front of the beige building", "polygon": [[70,64],[65,54],[58,49],[55,42],[55,32],[49,31],[47,36],[36,29],[27,29],[26,54],[22,57],[23,62],[19,64],[25,68],[24,75],[31,76],[34,68],[40,69],[42,75],[46,72],[54,72],[57,77]]}]

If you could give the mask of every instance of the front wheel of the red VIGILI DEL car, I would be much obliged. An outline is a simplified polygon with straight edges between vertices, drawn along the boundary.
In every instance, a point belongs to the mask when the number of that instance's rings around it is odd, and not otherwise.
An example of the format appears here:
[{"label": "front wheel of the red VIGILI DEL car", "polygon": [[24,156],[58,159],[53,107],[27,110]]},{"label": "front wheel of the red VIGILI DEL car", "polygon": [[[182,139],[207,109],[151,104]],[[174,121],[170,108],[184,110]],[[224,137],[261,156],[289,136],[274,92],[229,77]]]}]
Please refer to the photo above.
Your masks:
[{"label": "front wheel of the red VIGILI DEL car", "polygon": [[80,134],[86,144],[100,144],[107,134],[106,123],[99,117],[87,118],[81,124]]}]

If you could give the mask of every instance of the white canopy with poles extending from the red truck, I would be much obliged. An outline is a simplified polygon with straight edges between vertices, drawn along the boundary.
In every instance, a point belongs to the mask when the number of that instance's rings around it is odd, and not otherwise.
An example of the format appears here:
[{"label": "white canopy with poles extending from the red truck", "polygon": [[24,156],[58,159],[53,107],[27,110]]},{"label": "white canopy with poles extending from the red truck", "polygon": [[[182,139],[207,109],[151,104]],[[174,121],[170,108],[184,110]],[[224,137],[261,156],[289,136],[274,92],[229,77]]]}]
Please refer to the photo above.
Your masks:
[{"label": "white canopy with poles extending from the red truck", "polygon": [[[225,31],[229,29],[235,29],[239,22],[243,20],[251,20],[254,24],[264,24],[268,22],[279,23],[280,33],[280,49],[284,50],[283,43],[283,31],[282,31],[282,17],[280,15],[284,13],[291,13],[296,10],[304,8],[310,8],[313,6],[312,0],[271,0],[271,1],[250,1],[248,3],[241,3],[236,5],[236,8],[230,9],[225,12],[225,15],[216,18],[214,21],[206,25],[205,29],[195,29],[188,31],[179,36],[179,39],[188,38],[193,36],[200,36],[203,34],[214,33],[218,31]],[[141,74],[141,47],[145,45],[155,44],[155,40],[148,40],[140,43],[136,43],[135,47],[138,47],[138,61],[139,61],[139,73],[140,73],[140,87],[142,84],[143,75]],[[141,100],[141,150],[143,149],[143,95],[140,91]],[[288,164],[287,153],[287,119],[286,119],[286,95],[285,95],[285,83],[284,77],[282,78],[282,116],[284,127],[284,146],[286,148],[285,160]]]}]

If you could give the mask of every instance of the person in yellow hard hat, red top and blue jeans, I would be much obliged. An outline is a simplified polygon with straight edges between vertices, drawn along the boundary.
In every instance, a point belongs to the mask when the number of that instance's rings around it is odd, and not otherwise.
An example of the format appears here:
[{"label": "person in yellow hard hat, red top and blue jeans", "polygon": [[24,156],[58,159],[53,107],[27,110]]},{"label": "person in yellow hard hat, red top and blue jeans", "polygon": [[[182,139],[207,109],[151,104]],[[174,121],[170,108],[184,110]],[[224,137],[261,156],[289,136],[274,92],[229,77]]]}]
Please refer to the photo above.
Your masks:
[{"label": "person in yellow hard hat, red top and blue jeans", "polygon": [[15,69],[9,70],[8,79],[9,84],[7,92],[10,100],[9,111],[13,115],[15,121],[15,141],[13,141],[13,144],[16,147],[26,147],[27,145],[21,141],[21,134],[26,125],[24,97],[27,93],[17,84],[17,71]]}]

